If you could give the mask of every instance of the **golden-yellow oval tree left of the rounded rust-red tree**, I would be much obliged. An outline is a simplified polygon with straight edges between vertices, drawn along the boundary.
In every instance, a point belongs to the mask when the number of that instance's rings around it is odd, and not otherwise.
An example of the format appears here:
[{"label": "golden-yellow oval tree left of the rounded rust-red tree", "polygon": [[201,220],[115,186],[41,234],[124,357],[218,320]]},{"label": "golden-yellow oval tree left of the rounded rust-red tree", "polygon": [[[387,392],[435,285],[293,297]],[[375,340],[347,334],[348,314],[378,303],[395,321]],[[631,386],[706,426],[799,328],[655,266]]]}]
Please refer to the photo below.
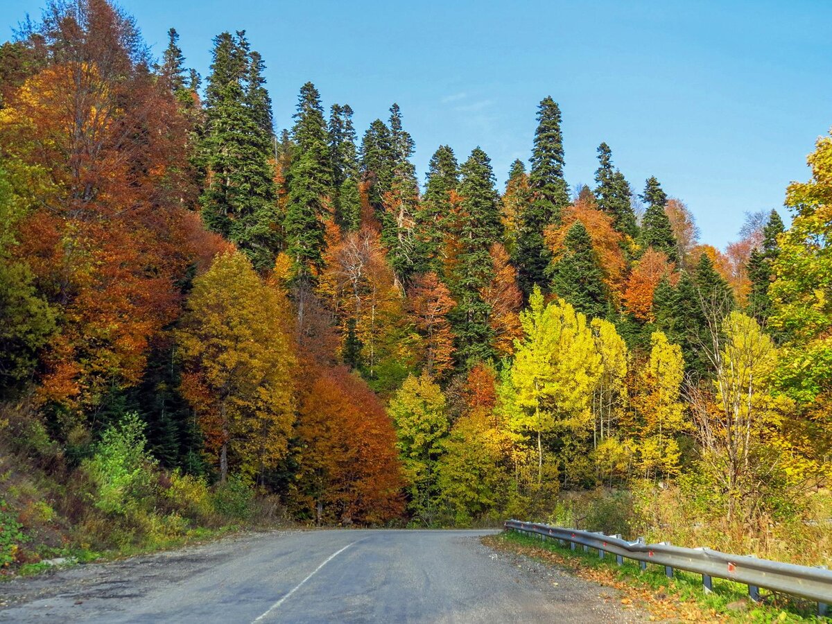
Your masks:
[{"label": "golden-yellow oval tree left of the rounded rust-red tree", "polygon": [[181,390],[221,481],[230,464],[253,475],[286,452],[295,418],[289,316],[285,296],[264,285],[239,252],[217,256],[194,280],[176,332]]}]

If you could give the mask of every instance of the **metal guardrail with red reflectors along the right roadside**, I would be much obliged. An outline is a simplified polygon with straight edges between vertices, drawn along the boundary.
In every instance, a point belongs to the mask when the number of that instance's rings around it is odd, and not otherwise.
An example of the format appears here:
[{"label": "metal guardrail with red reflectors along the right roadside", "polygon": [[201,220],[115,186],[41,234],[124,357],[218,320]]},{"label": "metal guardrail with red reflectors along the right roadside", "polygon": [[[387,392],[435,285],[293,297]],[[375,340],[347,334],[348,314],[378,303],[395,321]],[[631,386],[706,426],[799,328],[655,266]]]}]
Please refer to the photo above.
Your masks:
[{"label": "metal guardrail with red reflectors along the right roadside", "polygon": [[557,539],[563,545],[568,542],[572,550],[576,546],[582,546],[585,551],[597,550],[598,557],[601,558],[609,552],[616,556],[618,565],[625,558],[640,562],[642,570],[648,563],[655,563],[665,568],[668,577],[673,576],[674,570],[696,572],[702,575],[702,587],[706,592],[711,591],[711,579],[716,577],[747,585],[749,597],[755,602],[760,600],[760,587],[817,601],[821,616],[827,615],[832,602],[832,571],[824,567],[797,566],[745,555],[730,555],[711,548],[683,548],[672,546],[670,542],[646,544],[643,537],[628,542],[620,535],[550,527],[519,520],[508,520],[505,527],[528,535],[539,535],[541,539]]}]

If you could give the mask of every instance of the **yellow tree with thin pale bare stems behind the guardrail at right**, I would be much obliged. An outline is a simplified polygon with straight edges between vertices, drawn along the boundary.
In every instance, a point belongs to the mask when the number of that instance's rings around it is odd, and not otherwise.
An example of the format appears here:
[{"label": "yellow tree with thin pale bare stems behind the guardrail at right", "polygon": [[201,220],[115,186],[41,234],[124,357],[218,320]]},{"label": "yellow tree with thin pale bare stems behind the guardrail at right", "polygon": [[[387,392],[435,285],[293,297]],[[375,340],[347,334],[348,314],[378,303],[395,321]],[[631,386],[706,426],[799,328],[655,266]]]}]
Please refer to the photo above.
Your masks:
[{"label": "yellow tree with thin pale bare stems behind the guardrail at right", "polygon": [[779,354],[755,319],[731,312],[711,336],[712,390],[692,389],[702,468],[725,503],[726,518],[750,520],[805,496],[816,473],[785,432],[794,402],[773,392]]}]

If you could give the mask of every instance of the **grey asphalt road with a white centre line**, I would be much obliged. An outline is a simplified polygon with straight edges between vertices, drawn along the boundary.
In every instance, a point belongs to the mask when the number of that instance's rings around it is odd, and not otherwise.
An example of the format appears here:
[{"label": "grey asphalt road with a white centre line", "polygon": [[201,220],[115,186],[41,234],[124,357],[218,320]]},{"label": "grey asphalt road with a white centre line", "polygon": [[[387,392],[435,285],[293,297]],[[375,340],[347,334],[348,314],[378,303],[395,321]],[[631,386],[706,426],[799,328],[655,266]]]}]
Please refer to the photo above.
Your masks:
[{"label": "grey asphalt road with a white centre line", "polygon": [[[253,534],[0,584],[0,622],[637,622],[486,531]],[[5,594],[5,595],[4,595]]]}]

